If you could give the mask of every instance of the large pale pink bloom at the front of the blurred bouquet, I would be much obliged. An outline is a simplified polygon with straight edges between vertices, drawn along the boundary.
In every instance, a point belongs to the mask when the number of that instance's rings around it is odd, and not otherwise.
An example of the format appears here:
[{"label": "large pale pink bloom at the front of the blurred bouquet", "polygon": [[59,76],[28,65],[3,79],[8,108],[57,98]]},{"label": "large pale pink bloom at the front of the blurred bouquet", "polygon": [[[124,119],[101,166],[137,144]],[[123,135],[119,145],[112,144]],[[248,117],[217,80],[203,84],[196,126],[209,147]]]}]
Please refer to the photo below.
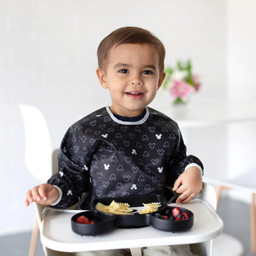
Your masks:
[{"label": "large pale pink bloom at the front of the blurred bouquet", "polygon": [[188,94],[192,93],[194,91],[194,88],[187,82],[177,79],[173,79],[172,82],[173,84],[171,87],[171,94],[174,100],[180,97],[180,99],[186,102],[186,100],[188,99]]}]

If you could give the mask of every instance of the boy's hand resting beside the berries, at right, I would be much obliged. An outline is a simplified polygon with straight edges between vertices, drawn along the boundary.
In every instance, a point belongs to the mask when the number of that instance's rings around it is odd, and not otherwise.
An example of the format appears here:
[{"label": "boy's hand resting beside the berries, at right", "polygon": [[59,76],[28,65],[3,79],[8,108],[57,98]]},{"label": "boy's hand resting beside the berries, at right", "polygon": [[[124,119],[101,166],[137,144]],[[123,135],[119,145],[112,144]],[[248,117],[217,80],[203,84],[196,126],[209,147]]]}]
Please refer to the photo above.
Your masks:
[{"label": "boy's hand resting beside the berries, at right", "polygon": [[173,191],[180,196],[176,203],[189,203],[202,189],[201,173],[199,168],[191,166],[180,174],[174,183]]}]

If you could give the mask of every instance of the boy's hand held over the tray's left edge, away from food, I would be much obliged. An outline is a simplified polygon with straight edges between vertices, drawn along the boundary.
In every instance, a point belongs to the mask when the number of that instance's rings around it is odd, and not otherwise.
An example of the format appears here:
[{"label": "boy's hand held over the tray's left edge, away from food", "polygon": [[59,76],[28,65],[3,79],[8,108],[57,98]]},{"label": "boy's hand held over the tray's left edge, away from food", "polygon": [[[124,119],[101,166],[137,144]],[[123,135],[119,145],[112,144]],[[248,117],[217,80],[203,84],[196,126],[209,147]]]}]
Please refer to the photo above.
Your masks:
[{"label": "boy's hand held over the tray's left edge, away from food", "polygon": [[30,203],[39,203],[47,206],[56,202],[59,198],[59,191],[53,185],[48,183],[40,184],[27,191],[25,205],[29,206]]}]

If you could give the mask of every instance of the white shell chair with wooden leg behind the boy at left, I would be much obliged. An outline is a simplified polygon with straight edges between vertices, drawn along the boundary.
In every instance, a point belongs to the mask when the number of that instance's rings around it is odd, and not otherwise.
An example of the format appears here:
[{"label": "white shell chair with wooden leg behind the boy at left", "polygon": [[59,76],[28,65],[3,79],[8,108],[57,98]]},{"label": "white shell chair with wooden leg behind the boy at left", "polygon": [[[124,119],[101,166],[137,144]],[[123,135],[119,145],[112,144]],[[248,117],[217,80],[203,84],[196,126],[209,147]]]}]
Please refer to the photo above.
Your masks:
[{"label": "white shell chair with wooden leg behind the boy at left", "polygon": [[[20,105],[24,122],[25,163],[30,174],[40,183],[46,182],[52,174],[52,146],[47,123],[42,112],[30,105]],[[39,227],[37,220],[33,226],[29,256],[35,255]]]}]

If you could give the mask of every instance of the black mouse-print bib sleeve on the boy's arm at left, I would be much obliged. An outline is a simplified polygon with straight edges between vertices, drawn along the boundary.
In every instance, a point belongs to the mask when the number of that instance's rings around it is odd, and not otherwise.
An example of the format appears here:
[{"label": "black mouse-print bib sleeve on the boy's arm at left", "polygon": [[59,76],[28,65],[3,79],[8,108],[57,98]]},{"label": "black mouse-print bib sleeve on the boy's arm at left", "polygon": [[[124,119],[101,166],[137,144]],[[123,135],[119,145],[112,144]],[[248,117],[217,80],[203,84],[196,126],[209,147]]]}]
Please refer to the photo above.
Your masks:
[{"label": "black mouse-print bib sleeve on the boy's arm at left", "polygon": [[[90,183],[90,158],[86,154],[88,148],[83,145],[79,135],[79,127],[71,126],[59,148],[59,171],[47,183],[58,186],[62,190],[62,200],[53,208],[68,208],[79,202],[82,193],[88,191]],[[86,148],[86,149],[85,149]]]}]

